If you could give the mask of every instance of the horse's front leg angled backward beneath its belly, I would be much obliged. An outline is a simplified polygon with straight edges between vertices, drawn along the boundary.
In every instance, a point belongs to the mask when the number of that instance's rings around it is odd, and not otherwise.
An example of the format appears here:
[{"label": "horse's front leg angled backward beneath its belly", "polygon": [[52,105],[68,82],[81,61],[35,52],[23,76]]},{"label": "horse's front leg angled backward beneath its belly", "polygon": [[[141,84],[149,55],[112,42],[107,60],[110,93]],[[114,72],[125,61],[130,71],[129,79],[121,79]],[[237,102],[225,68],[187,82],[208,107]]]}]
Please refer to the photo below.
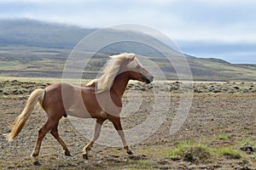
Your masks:
[{"label": "horse's front leg angled backward beneath its belly", "polygon": [[94,135],[93,138],[90,140],[90,143],[87,144],[84,147],[84,151],[83,151],[83,158],[88,160],[88,153],[89,150],[91,149],[92,145],[94,144],[94,142],[96,141],[96,139],[99,138],[100,133],[101,133],[101,129],[102,129],[102,123],[105,121],[106,119],[103,118],[97,118],[96,119],[96,125],[95,125],[95,130],[94,130]]}]

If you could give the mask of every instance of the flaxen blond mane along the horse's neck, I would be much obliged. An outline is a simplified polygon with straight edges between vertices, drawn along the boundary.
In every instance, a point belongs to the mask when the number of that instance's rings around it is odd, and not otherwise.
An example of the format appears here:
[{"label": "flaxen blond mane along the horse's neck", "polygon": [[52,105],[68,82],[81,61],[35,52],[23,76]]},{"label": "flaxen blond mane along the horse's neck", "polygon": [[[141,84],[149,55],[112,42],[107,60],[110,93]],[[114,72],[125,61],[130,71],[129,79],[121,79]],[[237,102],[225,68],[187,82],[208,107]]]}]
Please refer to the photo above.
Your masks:
[{"label": "flaxen blond mane along the horse's neck", "polygon": [[[131,55],[135,54],[118,54],[110,56],[104,70],[103,75],[99,79],[94,79],[86,84],[86,86],[96,87],[97,93],[110,90],[113,85],[114,77],[117,76],[120,66],[123,64],[125,59],[129,59]],[[129,63],[129,67],[134,67],[138,64],[137,59],[134,59]]]}]

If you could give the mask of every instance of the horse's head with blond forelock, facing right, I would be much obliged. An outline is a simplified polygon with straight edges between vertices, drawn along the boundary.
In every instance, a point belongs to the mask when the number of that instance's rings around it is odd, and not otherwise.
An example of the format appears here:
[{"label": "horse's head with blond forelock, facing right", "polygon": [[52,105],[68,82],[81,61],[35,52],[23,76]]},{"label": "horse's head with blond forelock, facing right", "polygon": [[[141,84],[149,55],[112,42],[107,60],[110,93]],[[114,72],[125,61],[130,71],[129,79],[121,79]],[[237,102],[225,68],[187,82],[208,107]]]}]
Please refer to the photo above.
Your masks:
[{"label": "horse's head with blond forelock, facing right", "polygon": [[153,81],[154,77],[143,68],[143,65],[137,60],[135,54],[127,54],[128,63],[126,69],[130,72],[131,80],[137,80],[140,82],[150,83]]}]

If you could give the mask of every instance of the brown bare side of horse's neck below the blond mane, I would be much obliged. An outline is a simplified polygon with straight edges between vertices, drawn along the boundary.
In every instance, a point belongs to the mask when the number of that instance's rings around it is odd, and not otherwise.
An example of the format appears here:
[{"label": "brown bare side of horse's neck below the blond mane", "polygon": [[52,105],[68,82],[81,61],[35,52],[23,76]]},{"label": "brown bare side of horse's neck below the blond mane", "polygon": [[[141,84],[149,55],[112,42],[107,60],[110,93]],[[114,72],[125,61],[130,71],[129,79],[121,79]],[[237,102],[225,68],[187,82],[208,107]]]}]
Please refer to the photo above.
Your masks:
[{"label": "brown bare side of horse's neck below the blond mane", "polygon": [[119,74],[117,77],[114,78],[113,86],[111,90],[121,98],[125,93],[125,89],[129,82],[129,73],[126,71],[124,73]]}]

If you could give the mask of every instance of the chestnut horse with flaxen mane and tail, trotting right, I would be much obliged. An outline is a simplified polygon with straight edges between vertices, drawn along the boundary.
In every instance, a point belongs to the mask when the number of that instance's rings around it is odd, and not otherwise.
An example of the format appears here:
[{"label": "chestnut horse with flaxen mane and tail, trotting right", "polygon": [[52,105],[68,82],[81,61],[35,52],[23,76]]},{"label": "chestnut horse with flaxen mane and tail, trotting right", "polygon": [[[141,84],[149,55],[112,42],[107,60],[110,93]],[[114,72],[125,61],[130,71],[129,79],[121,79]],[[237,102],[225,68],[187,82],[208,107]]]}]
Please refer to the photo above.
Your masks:
[{"label": "chestnut horse with flaxen mane and tail, trotting right", "polygon": [[102,76],[90,81],[85,86],[60,82],[44,89],[35,89],[29,96],[24,110],[15,118],[7,138],[9,141],[15,139],[27,119],[32,115],[35,105],[39,104],[48,118],[44,126],[38,130],[37,142],[32,152],[34,165],[41,165],[38,159],[40,146],[44,136],[49,132],[61,144],[64,154],[72,156],[67,144],[58,133],[58,124],[62,116],[96,119],[93,138],[84,147],[82,153],[84,159],[89,158],[88,152],[100,135],[102,123],[107,119],[113,123],[113,127],[119,133],[126,153],[133,154],[126,143],[125,133],[120,122],[122,96],[130,80],[150,83],[154,77],[143,68],[136,54],[117,54],[110,58],[104,67]]}]

